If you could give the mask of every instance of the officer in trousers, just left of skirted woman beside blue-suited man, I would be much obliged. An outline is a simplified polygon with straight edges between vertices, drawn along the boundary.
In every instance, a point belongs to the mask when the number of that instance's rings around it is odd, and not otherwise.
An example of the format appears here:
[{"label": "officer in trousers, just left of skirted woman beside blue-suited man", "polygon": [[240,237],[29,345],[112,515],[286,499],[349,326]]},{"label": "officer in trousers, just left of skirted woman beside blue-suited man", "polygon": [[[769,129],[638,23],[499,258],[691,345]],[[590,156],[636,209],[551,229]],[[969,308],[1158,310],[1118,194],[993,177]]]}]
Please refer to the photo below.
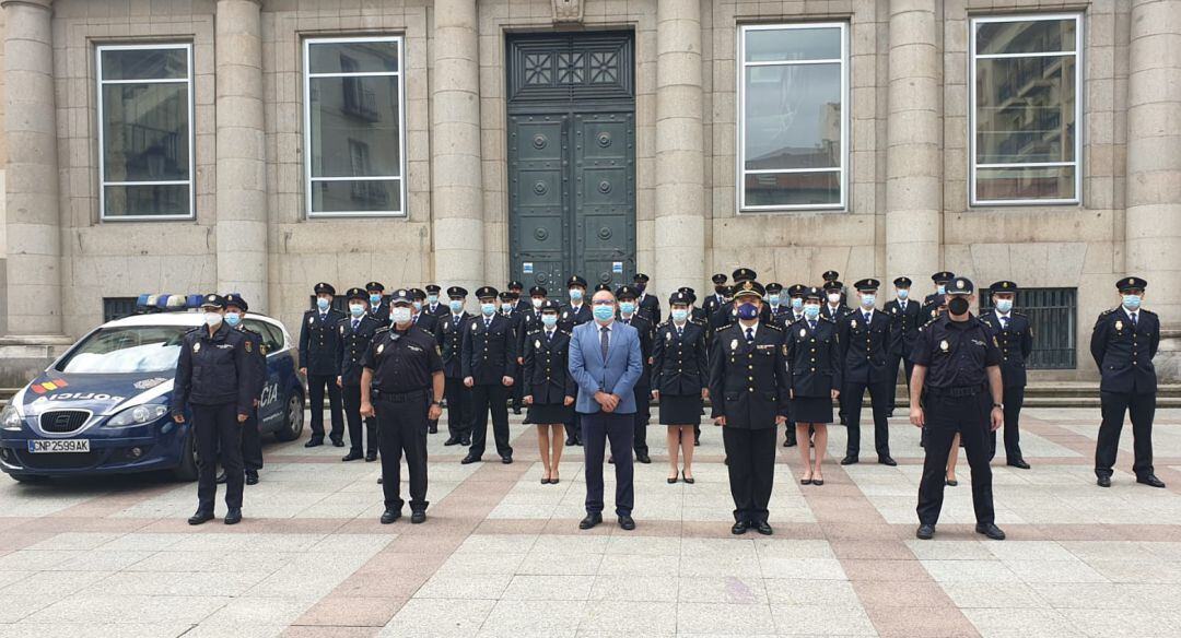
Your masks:
[{"label": "officer in trousers, just left of skirted woman beside blue-suited man", "polygon": [[513,462],[509,445],[509,389],[517,369],[517,340],[511,322],[496,311],[498,292],[485,285],[476,290],[479,316],[468,320],[463,330],[463,384],[471,389],[471,447],[463,463],[483,460],[488,440],[488,413],[501,462]]}]

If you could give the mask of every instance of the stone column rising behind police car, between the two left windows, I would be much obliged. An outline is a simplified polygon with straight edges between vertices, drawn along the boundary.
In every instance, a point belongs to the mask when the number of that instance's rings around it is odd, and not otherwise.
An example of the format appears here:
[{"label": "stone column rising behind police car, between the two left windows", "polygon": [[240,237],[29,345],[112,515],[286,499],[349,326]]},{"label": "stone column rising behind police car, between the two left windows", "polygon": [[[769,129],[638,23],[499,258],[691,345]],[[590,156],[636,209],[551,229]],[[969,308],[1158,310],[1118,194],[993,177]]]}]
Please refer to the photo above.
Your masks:
[{"label": "stone column rising behind police car, between the two left windows", "polygon": [[267,303],[261,0],[217,0],[217,290]]}]

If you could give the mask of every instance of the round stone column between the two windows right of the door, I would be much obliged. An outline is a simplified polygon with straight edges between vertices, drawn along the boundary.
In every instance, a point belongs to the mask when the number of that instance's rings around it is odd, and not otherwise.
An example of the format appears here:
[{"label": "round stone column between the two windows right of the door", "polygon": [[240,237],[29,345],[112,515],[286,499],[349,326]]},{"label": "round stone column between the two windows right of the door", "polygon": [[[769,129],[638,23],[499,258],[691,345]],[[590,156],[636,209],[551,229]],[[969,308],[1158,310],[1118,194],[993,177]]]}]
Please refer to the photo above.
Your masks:
[{"label": "round stone column between the two windows right of the door", "polygon": [[941,159],[937,0],[889,2],[886,282],[939,270]]}]

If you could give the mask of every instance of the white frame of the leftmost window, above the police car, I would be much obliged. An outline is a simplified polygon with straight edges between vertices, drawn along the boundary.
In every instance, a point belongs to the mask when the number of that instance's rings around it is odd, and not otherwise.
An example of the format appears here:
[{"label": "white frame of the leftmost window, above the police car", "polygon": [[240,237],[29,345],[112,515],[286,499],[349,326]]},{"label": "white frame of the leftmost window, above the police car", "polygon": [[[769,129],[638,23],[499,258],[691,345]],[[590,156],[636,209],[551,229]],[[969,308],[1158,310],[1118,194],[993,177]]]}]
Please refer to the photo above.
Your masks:
[{"label": "white frame of the leftmost window, above the police car", "polygon": [[[107,51],[159,51],[159,50],[184,50],[187,61],[187,74],[184,79],[135,79],[135,80],[104,80],[103,79],[103,53]],[[130,45],[98,45],[94,47],[94,84],[98,87],[96,107],[98,113],[98,218],[100,222],[168,222],[189,221],[197,216],[196,196],[196,131],[194,119],[194,105],[196,103],[193,78],[193,42],[139,42]],[[185,180],[163,179],[158,182],[107,182],[106,179],[106,120],[104,118],[104,94],[103,87],[119,84],[185,84],[188,86],[188,129],[189,129],[189,178]],[[106,215],[106,188],[107,186],[189,186],[189,213],[188,215]]]}]

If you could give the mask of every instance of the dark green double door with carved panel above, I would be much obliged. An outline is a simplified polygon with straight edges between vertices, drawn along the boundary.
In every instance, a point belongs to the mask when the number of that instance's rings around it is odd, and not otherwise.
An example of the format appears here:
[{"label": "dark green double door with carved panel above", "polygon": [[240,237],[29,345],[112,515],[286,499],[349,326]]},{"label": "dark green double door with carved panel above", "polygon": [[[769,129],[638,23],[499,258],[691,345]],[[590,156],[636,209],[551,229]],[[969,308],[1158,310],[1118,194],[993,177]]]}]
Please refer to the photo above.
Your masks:
[{"label": "dark green double door with carved panel above", "polygon": [[565,295],[635,272],[635,98],[629,32],[508,41],[510,275]]}]

